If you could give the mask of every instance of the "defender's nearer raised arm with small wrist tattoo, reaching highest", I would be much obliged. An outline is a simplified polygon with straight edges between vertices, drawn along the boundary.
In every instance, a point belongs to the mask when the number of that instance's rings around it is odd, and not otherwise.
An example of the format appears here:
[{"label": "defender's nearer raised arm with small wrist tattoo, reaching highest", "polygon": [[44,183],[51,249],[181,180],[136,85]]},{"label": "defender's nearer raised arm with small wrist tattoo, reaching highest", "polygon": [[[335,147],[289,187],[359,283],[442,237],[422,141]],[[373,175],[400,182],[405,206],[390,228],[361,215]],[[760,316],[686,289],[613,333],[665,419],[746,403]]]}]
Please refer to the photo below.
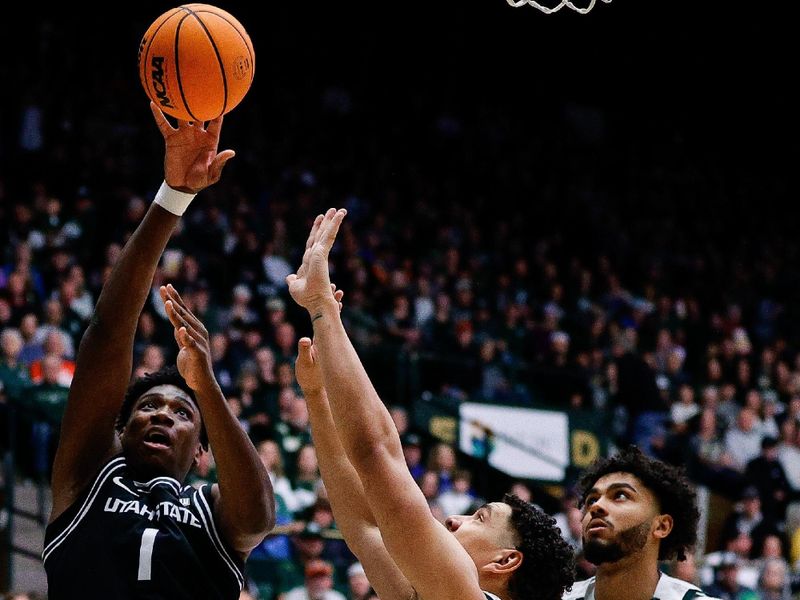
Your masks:
[{"label": "defender's nearer raised arm with small wrist tattoo, reaching highest", "polygon": [[331,291],[328,256],[346,211],[317,217],[289,292],[314,327],[333,420],[390,556],[420,598],[483,600],[475,563],[431,514],[408,471],[389,411],[350,343]]}]

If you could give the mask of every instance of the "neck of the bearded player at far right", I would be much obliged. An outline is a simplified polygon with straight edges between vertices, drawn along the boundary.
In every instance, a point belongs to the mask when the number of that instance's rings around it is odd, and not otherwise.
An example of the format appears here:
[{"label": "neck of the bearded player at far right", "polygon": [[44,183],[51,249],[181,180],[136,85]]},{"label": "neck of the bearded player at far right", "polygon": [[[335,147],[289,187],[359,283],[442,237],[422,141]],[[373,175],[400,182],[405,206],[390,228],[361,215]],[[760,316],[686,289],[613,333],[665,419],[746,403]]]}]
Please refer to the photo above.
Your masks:
[{"label": "neck of the bearded player at far right", "polygon": [[661,572],[652,557],[638,553],[597,568],[595,600],[651,600]]}]

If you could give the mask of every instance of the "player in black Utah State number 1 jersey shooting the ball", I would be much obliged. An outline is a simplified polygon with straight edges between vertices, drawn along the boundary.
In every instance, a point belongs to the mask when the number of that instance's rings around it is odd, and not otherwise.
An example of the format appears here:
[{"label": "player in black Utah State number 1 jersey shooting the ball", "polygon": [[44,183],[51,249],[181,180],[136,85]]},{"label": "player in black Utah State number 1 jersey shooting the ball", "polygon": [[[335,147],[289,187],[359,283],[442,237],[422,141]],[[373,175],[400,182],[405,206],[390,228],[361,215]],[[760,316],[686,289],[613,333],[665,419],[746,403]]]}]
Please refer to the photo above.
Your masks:
[{"label": "player in black Utah State number 1 jersey shooting the ball", "polygon": [[[153,275],[194,195],[233,151],[222,118],[164,136],[164,184],[125,244],[78,351],[53,464],[43,552],[51,600],[234,600],[250,550],[274,524],[269,477],[214,379],[208,333],[172,286],[161,288],[177,368],[130,388],[134,334]],[[127,393],[126,393],[127,390]],[[219,484],[184,480],[207,441]]]}]

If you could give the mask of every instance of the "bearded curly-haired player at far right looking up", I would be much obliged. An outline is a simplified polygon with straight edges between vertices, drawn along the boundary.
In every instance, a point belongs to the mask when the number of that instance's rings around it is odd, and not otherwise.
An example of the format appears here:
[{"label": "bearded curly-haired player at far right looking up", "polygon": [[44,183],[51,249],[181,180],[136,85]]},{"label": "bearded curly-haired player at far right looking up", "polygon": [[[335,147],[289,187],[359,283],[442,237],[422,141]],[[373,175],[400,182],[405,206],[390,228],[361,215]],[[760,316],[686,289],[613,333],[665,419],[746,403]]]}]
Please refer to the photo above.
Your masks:
[{"label": "bearded curly-haired player at far right looking up", "polygon": [[697,500],[682,470],[635,446],[598,460],[581,476],[583,553],[594,577],[565,600],[691,600],[696,586],[658,568],[685,560],[697,539]]}]

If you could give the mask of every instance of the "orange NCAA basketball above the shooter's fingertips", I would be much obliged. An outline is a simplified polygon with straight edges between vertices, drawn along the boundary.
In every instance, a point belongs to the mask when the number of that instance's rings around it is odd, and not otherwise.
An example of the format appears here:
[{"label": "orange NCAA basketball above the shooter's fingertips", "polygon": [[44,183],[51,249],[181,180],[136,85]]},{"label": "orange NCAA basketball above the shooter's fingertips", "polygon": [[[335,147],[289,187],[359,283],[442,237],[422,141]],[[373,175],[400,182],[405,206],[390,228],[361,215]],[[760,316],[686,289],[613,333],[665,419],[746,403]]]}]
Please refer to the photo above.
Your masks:
[{"label": "orange NCAA basketball above the shooter's fingertips", "polygon": [[233,110],[253,83],[255,51],[230,13],[184,4],[158,17],[139,44],[139,79],[161,110],[209,121]]}]

